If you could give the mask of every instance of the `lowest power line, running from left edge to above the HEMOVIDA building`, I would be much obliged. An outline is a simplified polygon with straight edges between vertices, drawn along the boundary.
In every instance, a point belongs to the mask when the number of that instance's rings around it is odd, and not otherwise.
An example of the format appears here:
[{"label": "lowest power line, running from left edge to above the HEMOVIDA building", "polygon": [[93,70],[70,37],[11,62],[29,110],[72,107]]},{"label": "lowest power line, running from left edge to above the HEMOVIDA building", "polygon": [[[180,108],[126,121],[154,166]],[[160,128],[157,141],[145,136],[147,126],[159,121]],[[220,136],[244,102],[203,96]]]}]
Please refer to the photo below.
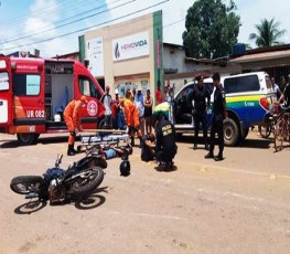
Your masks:
[{"label": "lowest power line, running from left edge to above the HEMOVIDA building", "polygon": [[[54,39],[58,39],[58,38],[64,38],[64,36],[67,36],[67,35],[72,35],[72,34],[74,34],[74,33],[84,32],[84,31],[90,30],[90,29],[93,29],[93,28],[100,27],[100,25],[104,25],[104,24],[107,24],[107,23],[110,23],[110,22],[114,22],[114,21],[117,21],[117,20],[127,18],[127,17],[137,14],[137,13],[140,13],[140,12],[142,12],[142,11],[146,11],[146,10],[151,9],[151,8],[154,8],[154,7],[158,7],[158,6],[160,6],[160,4],[163,4],[164,2],[168,2],[168,1],[170,1],[170,0],[163,0],[163,1],[161,1],[161,2],[158,2],[158,3],[152,4],[152,6],[150,6],[150,7],[147,7],[147,8],[142,8],[142,9],[140,9],[140,10],[135,11],[135,12],[131,12],[131,13],[129,13],[129,14],[125,14],[125,15],[121,15],[121,17],[118,17],[118,18],[115,18],[115,19],[105,21],[105,22],[103,22],[103,23],[98,23],[98,24],[95,24],[95,25],[90,25],[90,27],[85,28],[85,29],[79,29],[79,30],[76,30],[76,31],[73,31],[73,32],[64,33],[64,34],[61,34],[61,35],[58,35],[58,36],[53,36],[53,38],[44,39],[44,40],[41,40],[41,41],[36,41],[36,42],[32,42],[32,43],[26,43],[26,44],[23,44],[23,45],[11,46],[11,47],[6,49],[6,51],[7,51],[7,50],[13,50],[13,49],[22,47],[22,46],[28,46],[28,45],[32,45],[32,44],[39,44],[39,43],[42,43],[42,42],[52,41],[52,40],[54,40]],[[2,50],[2,51],[3,51],[3,50]]]}]

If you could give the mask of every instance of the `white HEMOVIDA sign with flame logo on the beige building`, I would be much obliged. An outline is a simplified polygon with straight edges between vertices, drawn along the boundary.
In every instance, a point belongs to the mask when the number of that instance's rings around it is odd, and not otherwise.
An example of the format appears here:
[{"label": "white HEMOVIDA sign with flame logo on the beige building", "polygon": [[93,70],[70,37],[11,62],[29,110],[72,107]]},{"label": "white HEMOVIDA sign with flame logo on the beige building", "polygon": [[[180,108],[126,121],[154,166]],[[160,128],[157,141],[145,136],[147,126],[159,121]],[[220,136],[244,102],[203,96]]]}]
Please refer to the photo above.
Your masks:
[{"label": "white HEMOVIDA sign with flame logo on the beige building", "polygon": [[149,32],[112,40],[112,61],[149,55]]}]

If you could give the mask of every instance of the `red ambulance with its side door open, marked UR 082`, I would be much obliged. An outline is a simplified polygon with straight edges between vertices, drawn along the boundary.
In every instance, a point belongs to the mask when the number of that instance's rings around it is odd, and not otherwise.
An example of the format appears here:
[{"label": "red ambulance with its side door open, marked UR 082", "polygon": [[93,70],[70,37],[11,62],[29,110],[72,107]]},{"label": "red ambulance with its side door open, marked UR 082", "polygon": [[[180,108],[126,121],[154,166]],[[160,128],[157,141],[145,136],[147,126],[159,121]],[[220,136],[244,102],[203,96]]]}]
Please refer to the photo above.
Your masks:
[{"label": "red ambulance with its side door open, marked UR 082", "polygon": [[83,129],[101,128],[104,91],[74,60],[0,56],[0,133],[17,134],[22,145],[37,142],[41,134],[67,131],[62,113],[72,99],[86,95],[80,109]]}]

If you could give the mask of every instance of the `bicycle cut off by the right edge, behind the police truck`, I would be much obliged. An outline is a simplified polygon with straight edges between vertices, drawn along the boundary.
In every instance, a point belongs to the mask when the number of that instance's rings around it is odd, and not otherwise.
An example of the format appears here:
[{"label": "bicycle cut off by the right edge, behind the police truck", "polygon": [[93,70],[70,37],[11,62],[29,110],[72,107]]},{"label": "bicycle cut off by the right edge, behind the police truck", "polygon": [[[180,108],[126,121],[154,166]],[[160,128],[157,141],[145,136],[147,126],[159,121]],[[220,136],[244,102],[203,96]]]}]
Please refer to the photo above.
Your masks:
[{"label": "bicycle cut off by the right edge, behind the police truck", "polygon": [[283,148],[283,141],[290,137],[290,106],[281,105],[281,113],[275,125],[275,150],[280,151]]}]

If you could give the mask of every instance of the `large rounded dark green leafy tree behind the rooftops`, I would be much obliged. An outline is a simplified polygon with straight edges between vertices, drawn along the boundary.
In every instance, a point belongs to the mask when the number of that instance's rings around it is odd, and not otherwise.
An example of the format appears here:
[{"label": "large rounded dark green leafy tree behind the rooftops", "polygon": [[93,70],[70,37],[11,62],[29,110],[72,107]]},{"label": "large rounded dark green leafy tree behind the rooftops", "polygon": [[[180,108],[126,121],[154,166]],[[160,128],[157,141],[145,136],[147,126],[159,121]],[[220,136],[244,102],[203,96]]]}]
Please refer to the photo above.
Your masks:
[{"label": "large rounded dark green leafy tree behind the rooftops", "polygon": [[185,54],[190,57],[228,56],[237,43],[239,15],[233,0],[197,0],[187,10],[182,34]]}]

